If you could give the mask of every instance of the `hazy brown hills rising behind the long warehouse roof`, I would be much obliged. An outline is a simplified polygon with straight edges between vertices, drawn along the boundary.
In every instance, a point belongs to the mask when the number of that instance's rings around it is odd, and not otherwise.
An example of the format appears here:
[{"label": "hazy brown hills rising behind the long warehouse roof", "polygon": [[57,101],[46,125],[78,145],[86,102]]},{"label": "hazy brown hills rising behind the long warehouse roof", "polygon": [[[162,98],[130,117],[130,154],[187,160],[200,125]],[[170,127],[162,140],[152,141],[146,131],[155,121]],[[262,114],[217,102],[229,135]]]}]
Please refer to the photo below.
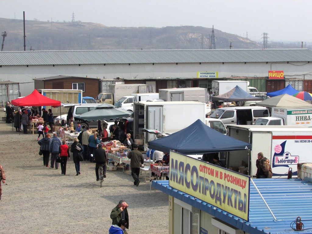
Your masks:
[{"label": "hazy brown hills rising behind the long warehouse roof", "polygon": [[[3,51],[23,51],[23,20],[0,18],[6,32]],[[25,21],[26,50],[165,50],[209,49],[212,28],[106,27],[90,22]],[[214,29],[216,49],[261,49],[261,42]],[[2,41],[1,37],[1,41]],[[299,43],[267,48],[301,48]]]}]

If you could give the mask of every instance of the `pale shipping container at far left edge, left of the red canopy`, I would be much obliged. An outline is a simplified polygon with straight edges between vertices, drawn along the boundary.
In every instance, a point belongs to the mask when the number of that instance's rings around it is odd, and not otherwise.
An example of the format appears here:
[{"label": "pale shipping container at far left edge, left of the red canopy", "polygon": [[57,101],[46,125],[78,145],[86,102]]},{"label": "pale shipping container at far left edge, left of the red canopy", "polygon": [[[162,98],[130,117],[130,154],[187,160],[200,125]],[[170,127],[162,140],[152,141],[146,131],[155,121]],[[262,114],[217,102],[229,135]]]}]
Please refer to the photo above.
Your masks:
[{"label": "pale shipping container at far left edge, left of the red canopy", "polygon": [[19,83],[11,81],[0,82],[0,104],[5,106],[7,101],[20,97]]}]

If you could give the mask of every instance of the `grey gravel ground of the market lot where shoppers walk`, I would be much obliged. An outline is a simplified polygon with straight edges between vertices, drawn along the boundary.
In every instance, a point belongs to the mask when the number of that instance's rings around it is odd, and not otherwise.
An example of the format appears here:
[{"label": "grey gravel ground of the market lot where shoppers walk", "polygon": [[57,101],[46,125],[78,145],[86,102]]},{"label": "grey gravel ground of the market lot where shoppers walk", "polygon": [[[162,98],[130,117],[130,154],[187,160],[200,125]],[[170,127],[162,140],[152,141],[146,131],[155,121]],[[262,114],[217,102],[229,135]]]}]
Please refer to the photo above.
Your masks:
[{"label": "grey gravel ground of the market lot where shoppers walk", "polygon": [[168,195],[154,188],[150,193],[144,179],[136,187],[129,171],[107,171],[100,188],[95,163],[81,162],[81,175],[76,176],[72,160],[61,175],[61,168],[43,166],[37,134],[19,134],[1,120],[0,141],[0,164],[7,178],[0,233],[109,233],[110,212],[119,200],[129,204],[129,234],[168,233]]}]

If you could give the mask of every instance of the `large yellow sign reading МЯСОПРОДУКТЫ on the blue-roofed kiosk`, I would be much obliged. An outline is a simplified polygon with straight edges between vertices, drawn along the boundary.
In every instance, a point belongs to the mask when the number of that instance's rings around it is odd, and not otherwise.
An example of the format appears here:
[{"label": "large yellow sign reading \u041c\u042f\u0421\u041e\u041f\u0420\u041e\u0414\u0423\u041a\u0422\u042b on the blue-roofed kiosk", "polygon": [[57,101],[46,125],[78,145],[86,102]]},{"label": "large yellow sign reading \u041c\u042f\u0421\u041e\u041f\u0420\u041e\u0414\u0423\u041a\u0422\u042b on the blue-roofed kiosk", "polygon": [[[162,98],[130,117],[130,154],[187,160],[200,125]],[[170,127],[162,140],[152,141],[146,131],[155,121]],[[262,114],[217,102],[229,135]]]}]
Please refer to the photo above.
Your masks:
[{"label": "large yellow sign reading \u041c\u042f\u0421\u041e\u041f\u0420\u041e\u0414\u0423\u041a\u0422\u042b on the blue-roofed kiosk", "polygon": [[169,186],[249,221],[249,176],[170,151]]}]

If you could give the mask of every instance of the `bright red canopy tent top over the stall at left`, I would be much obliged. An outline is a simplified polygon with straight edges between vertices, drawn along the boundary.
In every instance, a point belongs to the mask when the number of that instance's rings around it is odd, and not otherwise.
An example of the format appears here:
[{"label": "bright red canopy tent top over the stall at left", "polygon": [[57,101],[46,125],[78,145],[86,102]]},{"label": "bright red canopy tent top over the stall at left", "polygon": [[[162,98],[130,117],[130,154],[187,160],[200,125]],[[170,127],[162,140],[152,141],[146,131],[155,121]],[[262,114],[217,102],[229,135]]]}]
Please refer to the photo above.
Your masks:
[{"label": "bright red canopy tent top over the stall at left", "polygon": [[36,89],[28,96],[11,101],[15,106],[53,106],[61,105],[60,101],[53,100],[41,95]]}]

